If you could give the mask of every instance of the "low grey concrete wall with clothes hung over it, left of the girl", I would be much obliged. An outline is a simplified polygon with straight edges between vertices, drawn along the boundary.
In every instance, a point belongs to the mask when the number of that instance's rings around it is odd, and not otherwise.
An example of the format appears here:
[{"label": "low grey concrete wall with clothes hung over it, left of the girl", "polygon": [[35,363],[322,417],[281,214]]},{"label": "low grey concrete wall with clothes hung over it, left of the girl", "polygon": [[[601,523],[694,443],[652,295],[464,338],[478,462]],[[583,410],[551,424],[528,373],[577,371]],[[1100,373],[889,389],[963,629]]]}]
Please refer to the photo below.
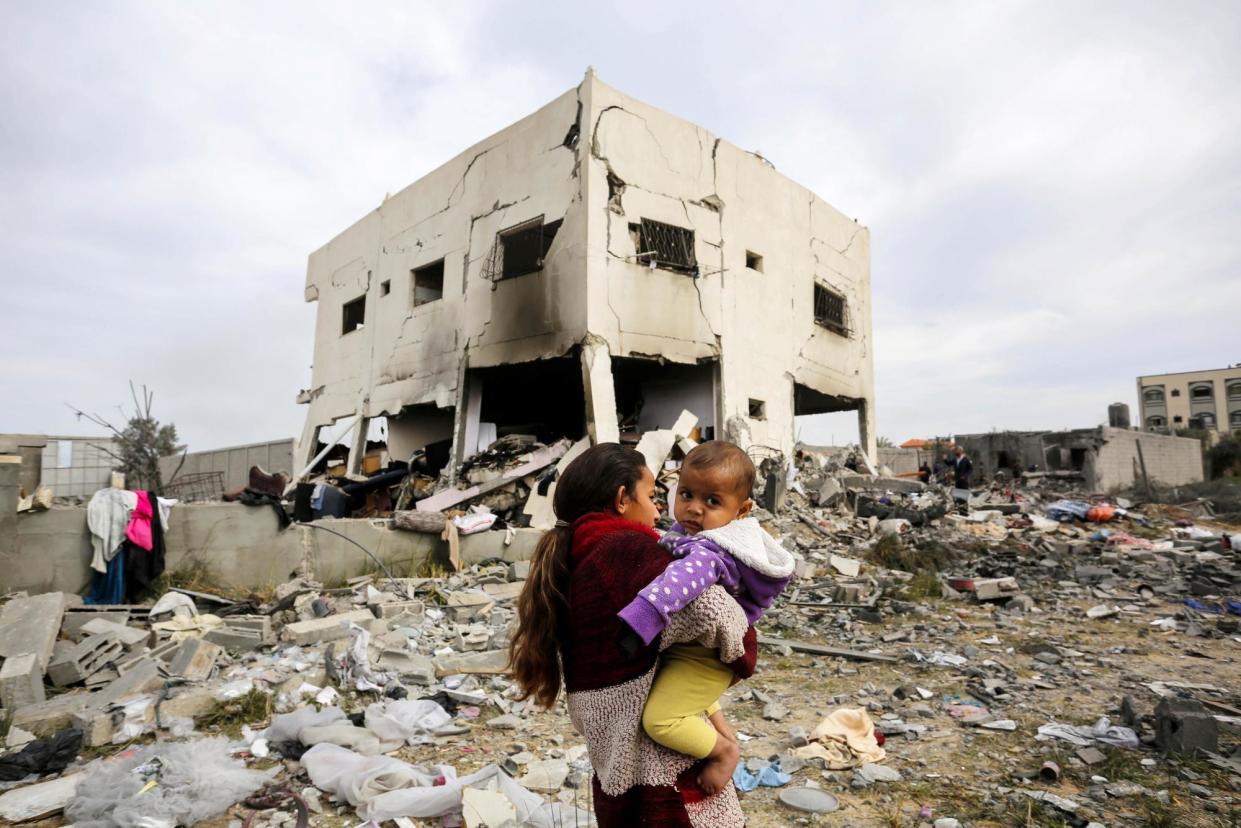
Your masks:
[{"label": "low grey concrete wall with clothes hung over it, left of the girl", "polygon": [[[316,528],[318,526],[318,528]],[[280,530],[269,506],[237,503],[187,504],[172,509],[166,536],[168,569],[191,560],[207,564],[221,585],[261,590],[289,580],[299,567],[325,583],[338,583],[375,569],[371,559],[340,533],[370,550],[393,575],[413,574],[429,555],[447,560],[438,535],[391,529],[386,520],[319,520]],[[462,559],[524,560],[541,531],[520,529],[510,545],[505,534],[486,531],[462,538]],[[91,534],[86,509],[52,509],[17,515],[17,542],[0,554],[0,592],[82,592],[91,581]]]}]

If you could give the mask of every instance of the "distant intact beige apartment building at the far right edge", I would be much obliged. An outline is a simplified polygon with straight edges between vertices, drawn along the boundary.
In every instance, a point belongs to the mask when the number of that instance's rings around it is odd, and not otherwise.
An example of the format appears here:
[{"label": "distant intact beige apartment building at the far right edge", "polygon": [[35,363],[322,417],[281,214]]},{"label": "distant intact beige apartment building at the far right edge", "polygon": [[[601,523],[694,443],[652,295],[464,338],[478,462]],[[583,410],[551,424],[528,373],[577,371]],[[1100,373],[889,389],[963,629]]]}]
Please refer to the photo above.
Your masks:
[{"label": "distant intact beige apartment building at the far right edge", "polygon": [[1143,431],[1241,430],[1241,362],[1214,371],[1138,377]]}]

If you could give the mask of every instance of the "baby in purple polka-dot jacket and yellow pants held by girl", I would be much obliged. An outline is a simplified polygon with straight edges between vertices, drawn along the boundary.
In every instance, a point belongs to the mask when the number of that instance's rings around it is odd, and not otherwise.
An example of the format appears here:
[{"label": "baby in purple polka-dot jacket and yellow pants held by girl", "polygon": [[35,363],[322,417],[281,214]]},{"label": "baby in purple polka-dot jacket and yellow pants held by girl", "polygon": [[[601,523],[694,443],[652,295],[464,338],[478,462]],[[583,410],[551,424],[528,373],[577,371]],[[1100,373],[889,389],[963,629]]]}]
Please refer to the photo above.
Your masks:
[{"label": "baby in purple polka-dot jacket and yellow pants held by girl", "polygon": [[[673,504],[676,524],[660,540],[678,560],[618,613],[643,644],[712,583],[736,598],[751,624],[788,585],[793,556],[747,516],[753,487],[755,464],[732,443],[706,442],[685,457]],[[642,715],[654,741],[706,760],[699,785],[709,794],[728,783],[741,756],[720,711],[719,699],[731,683],[732,670],[715,650],[674,644],[663,653]]]}]

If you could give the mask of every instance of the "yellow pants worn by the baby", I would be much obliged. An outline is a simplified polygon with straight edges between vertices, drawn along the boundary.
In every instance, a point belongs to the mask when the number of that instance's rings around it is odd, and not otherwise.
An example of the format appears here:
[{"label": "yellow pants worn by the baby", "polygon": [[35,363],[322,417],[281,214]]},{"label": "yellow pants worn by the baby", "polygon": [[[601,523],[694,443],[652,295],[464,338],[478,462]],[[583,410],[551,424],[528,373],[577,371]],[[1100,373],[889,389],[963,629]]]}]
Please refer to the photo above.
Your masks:
[{"label": "yellow pants worn by the baby", "polygon": [[642,711],[642,727],[654,741],[695,758],[715,749],[715,727],[704,719],[720,709],[732,670],[714,649],[675,644],[661,655],[655,683]]}]

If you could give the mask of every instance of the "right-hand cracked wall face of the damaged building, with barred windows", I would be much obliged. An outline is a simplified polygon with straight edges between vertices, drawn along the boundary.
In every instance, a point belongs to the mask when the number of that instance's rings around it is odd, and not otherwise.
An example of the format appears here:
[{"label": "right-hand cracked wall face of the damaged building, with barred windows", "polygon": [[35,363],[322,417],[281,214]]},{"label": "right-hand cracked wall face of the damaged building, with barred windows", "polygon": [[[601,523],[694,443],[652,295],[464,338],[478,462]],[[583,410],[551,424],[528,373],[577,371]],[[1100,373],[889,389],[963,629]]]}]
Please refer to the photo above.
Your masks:
[{"label": "right-hand cracked wall face of the damaged building, with barred windows", "polygon": [[[874,457],[870,232],[764,159],[587,77],[588,326],[612,356],[720,361],[726,434],[793,448],[793,385],[865,401]],[[694,231],[699,278],[649,269],[629,225]],[[747,251],[762,272],[746,267]],[[814,283],[851,333],[814,323]],[[750,417],[750,400],[764,405]]]}]

